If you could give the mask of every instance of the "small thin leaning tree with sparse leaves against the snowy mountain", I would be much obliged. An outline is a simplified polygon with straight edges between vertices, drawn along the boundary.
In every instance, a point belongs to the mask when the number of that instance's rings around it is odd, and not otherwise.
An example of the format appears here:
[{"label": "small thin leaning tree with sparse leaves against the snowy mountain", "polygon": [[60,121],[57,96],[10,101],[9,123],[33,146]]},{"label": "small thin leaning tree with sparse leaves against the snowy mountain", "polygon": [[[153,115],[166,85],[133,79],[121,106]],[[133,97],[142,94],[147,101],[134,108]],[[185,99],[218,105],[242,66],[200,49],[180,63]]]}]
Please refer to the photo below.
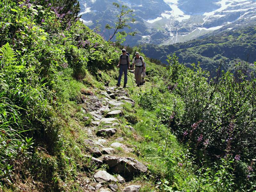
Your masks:
[{"label": "small thin leaning tree with sparse leaves against the snowy mountain", "polygon": [[[125,27],[128,27],[129,29],[131,28],[128,23],[135,22],[135,19],[133,18],[134,14],[132,14],[133,10],[132,9],[127,9],[128,7],[126,5],[122,5],[122,7],[120,7],[119,4],[117,3],[113,3],[113,5],[116,6],[116,8],[120,9],[120,12],[118,15],[116,15],[116,17],[118,18],[117,21],[115,22],[115,27],[110,26],[109,24],[107,24],[105,26],[106,29],[108,29],[108,34],[109,34],[109,39],[108,41],[110,41],[115,35],[117,35],[116,40],[117,41],[121,41],[127,36],[127,35],[131,35],[134,36],[137,32],[133,31],[130,33],[126,33],[125,31],[119,31],[121,29],[124,29]],[[113,35],[110,36],[110,30],[113,29]],[[119,31],[119,32],[118,32]]]}]

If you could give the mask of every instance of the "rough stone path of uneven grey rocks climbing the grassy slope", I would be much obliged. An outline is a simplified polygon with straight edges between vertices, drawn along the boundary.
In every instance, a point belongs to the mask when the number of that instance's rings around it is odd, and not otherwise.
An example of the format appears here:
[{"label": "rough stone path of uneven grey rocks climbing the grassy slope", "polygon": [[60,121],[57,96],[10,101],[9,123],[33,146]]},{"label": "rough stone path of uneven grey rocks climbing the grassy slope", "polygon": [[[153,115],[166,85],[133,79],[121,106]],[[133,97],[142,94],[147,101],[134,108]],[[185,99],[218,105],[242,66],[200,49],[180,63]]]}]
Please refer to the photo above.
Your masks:
[{"label": "rough stone path of uneven grey rocks climbing the grassy slope", "polygon": [[[148,168],[135,158],[128,156],[134,150],[122,143],[124,138],[119,137],[115,142],[110,142],[120,129],[120,121],[117,117],[123,116],[122,104],[128,102],[134,107],[135,101],[129,98],[123,88],[119,87],[106,88],[106,91],[101,94],[104,96],[102,106],[89,113],[94,121],[91,122],[92,127],[86,127],[89,139],[84,140],[88,146],[88,154],[84,157],[88,159],[91,166],[99,169],[101,165],[106,164],[108,169],[96,171],[91,178],[93,182],[85,186],[86,191],[139,192],[140,185],[129,185],[127,182],[132,181],[134,176],[147,173]],[[87,118],[84,117],[84,119]],[[126,128],[135,132],[131,126]],[[118,148],[121,148],[123,154],[127,156],[114,156]]]}]

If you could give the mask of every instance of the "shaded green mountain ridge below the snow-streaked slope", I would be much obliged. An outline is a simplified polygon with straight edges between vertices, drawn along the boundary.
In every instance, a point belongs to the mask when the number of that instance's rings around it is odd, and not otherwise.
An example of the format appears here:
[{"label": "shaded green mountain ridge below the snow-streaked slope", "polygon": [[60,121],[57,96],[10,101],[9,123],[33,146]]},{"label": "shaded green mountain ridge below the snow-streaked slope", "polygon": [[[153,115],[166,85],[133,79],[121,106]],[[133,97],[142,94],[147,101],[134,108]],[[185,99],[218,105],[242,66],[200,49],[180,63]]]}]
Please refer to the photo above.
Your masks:
[{"label": "shaded green mountain ridge below the snow-streaked slope", "polygon": [[176,53],[180,62],[191,64],[200,61],[202,68],[213,73],[222,61],[223,69],[227,71],[234,60],[256,61],[256,26],[225,30],[172,45],[145,44],[142,50],[148,57],[163,63],[167,63],[166,55]]}]

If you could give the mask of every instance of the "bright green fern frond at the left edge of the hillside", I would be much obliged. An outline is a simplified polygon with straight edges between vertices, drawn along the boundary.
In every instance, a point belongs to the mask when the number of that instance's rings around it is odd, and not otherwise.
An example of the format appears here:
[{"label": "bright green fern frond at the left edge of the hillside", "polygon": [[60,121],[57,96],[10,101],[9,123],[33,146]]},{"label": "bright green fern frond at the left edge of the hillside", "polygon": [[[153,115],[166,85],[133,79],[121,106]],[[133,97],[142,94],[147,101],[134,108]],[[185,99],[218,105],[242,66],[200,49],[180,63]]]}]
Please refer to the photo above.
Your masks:
[{"label": "bright green fern frond at the left edge of the hillside", "polygon": [[6,43],[0,48],[0,64],[2,68],[8,65],[13,65],[16,61],[15,57],[16,54],[9,43]]}]

